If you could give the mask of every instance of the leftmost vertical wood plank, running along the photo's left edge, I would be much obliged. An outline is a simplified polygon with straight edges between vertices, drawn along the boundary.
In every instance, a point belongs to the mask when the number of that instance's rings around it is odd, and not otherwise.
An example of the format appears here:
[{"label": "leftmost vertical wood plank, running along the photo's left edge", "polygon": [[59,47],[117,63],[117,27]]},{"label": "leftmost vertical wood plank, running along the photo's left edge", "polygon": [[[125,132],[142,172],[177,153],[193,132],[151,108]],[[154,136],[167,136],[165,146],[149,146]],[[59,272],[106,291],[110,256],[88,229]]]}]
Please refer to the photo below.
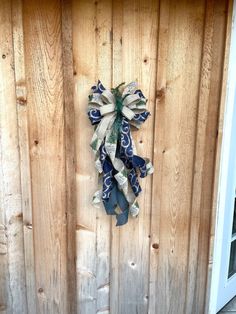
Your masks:
[{"label": "leftmost vertical wood plank, running along the photo's left edge", "polygon": [[25,264],[11,2],[0,10],[0,309],[26,313]]}]

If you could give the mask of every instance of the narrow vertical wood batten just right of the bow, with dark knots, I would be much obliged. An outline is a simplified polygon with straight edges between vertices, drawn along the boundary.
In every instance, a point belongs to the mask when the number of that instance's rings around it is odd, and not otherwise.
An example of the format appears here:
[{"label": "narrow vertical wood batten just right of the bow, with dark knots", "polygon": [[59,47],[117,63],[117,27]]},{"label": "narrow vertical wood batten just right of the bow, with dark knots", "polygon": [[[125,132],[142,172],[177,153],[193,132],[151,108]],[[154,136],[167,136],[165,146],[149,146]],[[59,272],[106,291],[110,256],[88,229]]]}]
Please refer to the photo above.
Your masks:
[{"label": "narrow vertical wood batten just right of the bow, with dark knots", "polygon": [[[158,254],[160,250],[160,219],[161,219],[161,198],[164,170],[163,163],[165,157],[165,124],[158,123],[159,117],[165,116],[165,92],[167,87],[167,65],[168,65],[168,31],[169,31],[169,11],[170,1],[160,1],[159,24],[158,24],[158,47],[157,47],[157,77],[156,77],[156,99],[155,99],[155,127],[154,127],[154,147],[153,166],[155,172],[152,182],[152,209],[150,236],[150,270],[149,270],[149,308],[148,313],[158,313],[159,304],[156,299],[158,289]],[[161,120],[160,120],[161,121]],[[163,121],[163,120],[162,120]],[[162,151],[161,151],[162,149]]]}]

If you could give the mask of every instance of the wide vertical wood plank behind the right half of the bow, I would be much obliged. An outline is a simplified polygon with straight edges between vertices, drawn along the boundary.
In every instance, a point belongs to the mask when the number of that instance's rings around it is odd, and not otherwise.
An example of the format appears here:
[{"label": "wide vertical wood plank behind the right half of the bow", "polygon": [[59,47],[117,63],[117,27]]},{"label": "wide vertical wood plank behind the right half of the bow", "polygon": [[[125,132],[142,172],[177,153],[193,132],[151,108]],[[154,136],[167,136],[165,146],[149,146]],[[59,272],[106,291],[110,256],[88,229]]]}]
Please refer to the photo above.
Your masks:
[{"label": "wide vertical wood plank behind the right half of the bow", "polygon": [[[155,100],[157,11],[157,1],[115,2],[113,9],[113,85],[138,81],[149,99],[151,114]],[[139,132],[134,132],[137,150],[142,156],[152,156],[153,125],[152,115]],[[112,304],[112,313],[147,312],[151,180],[147,177],[141,182],[139,217],[130,218],[127,225],[113,233],[112,278],[118,280],[118,287],[113,283],[118,290],[111,291],[111,300],[118,297],[118,301]]]}]

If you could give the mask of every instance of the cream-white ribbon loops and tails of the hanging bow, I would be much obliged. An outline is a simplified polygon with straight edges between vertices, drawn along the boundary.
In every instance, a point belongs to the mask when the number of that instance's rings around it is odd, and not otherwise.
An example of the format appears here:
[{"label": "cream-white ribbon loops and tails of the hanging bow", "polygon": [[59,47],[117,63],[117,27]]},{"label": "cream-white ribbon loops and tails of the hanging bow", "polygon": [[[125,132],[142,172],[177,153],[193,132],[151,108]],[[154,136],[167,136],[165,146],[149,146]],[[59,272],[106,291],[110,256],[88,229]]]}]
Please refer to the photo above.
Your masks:
[{"label": "cream-white ribbon loops and tails of the hanging bow", "polygon": [[[140,123],[132,120],[136,113],[141,113],[146,110],[146,99],[139,94],[134,94],[137,89],[137,83],[132,82],[128,84],[122,93],[124,97],[122,101],[121,113],[126,117],[130,124],[136,128],[140,127]],[[110,157],[113,167],[117,170],[117,174],[114,176],[118,182],[119,189],[124,193],[126,200],[129,203],[129,210],[132,216],[137,216],[139,213],[139,205],[136,201],[136,197],[131,190],[128,183],[127,170],[124,163],[115,157],[117,141],[110,140],[112,135],[112,126],[117,116],[116,99],[115,96],[109,90],[104,90],[102,94],[93,93],[92,99],[89,101],[88,110],[99,109],[102,119],[95,129],[92,137],[91,147],[95,154],[95,166],[99,173],[102,173],[102,166],[99,159],[99,148],[102,145],[105,138],[105,149]],[[134,142],[133,142],[134,143]],[[133,150],[136,152],[135,146]],[[147,164],[149,173],[153,172],[151,163]],[[97,191],[93,197],[93,203],[98,204],[102,199],[102,191]]]}]

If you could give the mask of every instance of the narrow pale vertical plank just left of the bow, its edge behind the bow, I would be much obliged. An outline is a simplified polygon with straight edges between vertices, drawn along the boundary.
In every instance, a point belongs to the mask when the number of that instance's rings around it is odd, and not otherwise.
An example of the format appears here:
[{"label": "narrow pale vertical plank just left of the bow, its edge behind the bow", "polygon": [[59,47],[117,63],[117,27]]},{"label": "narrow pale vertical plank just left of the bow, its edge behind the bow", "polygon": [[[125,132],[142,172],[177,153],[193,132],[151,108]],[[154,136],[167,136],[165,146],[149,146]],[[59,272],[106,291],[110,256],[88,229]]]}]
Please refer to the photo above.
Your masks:
[{"label": "narrow pale vertical plank just left of the bow, its edge behind the bow", "polygon": [[[76,277],[78,313],[96,312],[96,210],[91,205],[96,189],[93,156],[89,150],[92,128],[86,106],[95,78],[95,5],[73,1],[74,103],[76,134]],[[88,36],[89,34],[89,36]]]}]

